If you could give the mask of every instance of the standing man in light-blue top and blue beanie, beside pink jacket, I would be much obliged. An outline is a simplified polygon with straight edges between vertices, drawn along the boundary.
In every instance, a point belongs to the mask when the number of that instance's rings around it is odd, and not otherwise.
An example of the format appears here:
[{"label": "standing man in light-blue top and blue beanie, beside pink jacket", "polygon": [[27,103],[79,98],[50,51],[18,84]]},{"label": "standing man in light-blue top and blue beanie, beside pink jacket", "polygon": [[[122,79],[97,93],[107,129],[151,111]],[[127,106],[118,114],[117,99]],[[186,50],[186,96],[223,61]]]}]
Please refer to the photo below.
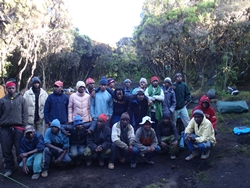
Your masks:
[{"label": "standing man in light-blue top and blue beanie, beside pink jacket", "polygon": [[106,90],[108,81],[103,76],[99,82],[99,91],[96,92],[95,97],[91,97],[90,112],[93,120],[97,120],[100,114],[107,115],[107,126],[110,126],[110,119],[113,114],[113,98]]}]

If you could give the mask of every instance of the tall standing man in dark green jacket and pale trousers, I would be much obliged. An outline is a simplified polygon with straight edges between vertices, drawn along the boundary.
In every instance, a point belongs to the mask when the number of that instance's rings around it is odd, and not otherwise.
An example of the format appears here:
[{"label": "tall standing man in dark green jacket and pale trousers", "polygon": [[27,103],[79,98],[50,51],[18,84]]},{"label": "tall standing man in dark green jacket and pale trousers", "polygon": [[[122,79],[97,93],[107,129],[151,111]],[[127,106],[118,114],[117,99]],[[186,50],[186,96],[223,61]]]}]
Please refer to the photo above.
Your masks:
[{"label": "tall standing man in dark green jacket and pale trousers", "polygon": [[190,118],[186,105],[191,100],[191,94],[189,88],[185,82],[182,81],[182,74],[175,74],[175,83],[173,83],[172,88],[175,91],[176,97],[176,108],[174,112],[174,122],[176,123],[178,116],[180,116],[183,124],[187,127]]}]

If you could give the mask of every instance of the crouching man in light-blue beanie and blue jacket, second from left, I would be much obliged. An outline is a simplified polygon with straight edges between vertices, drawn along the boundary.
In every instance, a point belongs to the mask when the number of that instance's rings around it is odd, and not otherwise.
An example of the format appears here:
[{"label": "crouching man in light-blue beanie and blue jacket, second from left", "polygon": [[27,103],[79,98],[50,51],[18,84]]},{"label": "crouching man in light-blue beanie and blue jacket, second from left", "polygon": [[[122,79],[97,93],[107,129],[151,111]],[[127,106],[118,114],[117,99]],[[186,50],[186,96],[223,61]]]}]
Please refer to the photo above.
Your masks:
[{"label": "crouching man in light-blue beanie and blue jacket, second from left", "polygon": [[45,178],[48,176],[49,165],[53,157],[55,159],[54,163],[57,165],[71,161],[68,155],[69,138],[62,133],[58,119],[54,119],[50,124],[50,128],[46,130],[44,143],[46,147],[44,149],[42,177]]}]

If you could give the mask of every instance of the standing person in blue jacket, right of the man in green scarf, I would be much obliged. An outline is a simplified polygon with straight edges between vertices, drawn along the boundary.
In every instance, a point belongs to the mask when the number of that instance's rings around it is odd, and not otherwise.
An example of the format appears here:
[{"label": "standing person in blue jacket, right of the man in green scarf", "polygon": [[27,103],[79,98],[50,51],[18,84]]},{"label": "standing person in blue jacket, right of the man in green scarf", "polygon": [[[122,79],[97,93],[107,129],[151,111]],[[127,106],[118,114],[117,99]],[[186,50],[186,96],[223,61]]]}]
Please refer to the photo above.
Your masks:
[{"label": "standing person in blue jacket, right of the man in green scarf", "polygon": [[162,86],[162,90],[164,93],[164,101],[162,103],[162,112],[163,114],[167,113],[170,119],[173,121],[173,113],[176,107],[176,98],[175,98],[175,92],[173,88],[171,87],[171,85],[172,85],[171,78],[166,77],[164,79],[164,84]]}]

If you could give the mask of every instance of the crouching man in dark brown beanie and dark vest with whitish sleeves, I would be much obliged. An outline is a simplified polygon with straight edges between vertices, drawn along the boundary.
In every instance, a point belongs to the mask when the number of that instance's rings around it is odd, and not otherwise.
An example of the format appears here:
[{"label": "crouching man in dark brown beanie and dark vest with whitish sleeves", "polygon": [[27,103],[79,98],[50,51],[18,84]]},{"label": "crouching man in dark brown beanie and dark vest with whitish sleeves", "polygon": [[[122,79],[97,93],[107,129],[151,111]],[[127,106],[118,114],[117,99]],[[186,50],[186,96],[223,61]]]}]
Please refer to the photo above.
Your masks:
[{"label": "crouching man in dark brown beanie and dark vest with whitish sleeves", "polygon": [[130,117],[127,112],[121,115],[121,119],[119,122],[115,123],[112,127],[111,139],[111,157],[110,163],[108,165],[109,169],[114,169],[114,163],[119,156],[119,160],[121,163],[125,162],[126,157],[131,157],[131,163],[134,164],[136,162],[136,150],[134,147],[134,128],[129,124]]}]

